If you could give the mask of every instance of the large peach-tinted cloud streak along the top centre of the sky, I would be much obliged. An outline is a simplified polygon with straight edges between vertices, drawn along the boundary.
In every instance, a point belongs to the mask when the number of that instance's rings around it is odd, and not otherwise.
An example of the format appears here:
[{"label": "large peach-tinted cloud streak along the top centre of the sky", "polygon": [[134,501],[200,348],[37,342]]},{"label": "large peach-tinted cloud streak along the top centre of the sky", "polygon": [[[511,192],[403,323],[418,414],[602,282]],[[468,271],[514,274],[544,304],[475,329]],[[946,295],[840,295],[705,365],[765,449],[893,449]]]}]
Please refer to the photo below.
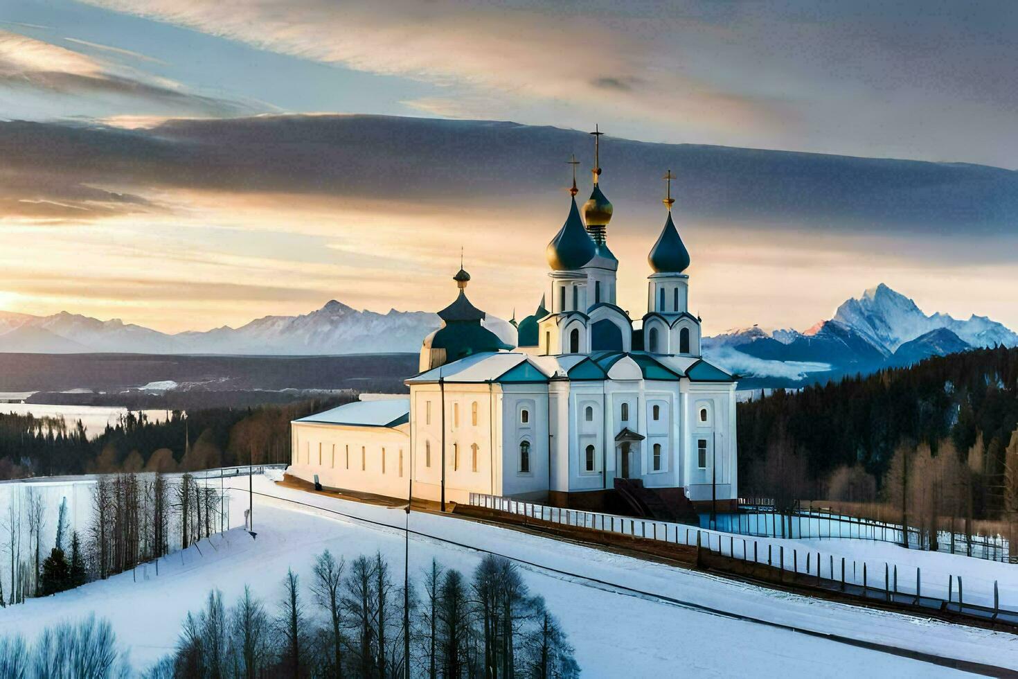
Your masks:
[{"label": "large peach-tinted cloud streak along the top centre of the sky", "polygon": [[660,26],[621,13],[605,21],[568,6],[539,11],[452,0],[93,3],[305,59],[458,86],[503,103],[596,107],[716,130],[766,128],[789,115],[774,100],[719,89],[677,67],[675,45]]}]

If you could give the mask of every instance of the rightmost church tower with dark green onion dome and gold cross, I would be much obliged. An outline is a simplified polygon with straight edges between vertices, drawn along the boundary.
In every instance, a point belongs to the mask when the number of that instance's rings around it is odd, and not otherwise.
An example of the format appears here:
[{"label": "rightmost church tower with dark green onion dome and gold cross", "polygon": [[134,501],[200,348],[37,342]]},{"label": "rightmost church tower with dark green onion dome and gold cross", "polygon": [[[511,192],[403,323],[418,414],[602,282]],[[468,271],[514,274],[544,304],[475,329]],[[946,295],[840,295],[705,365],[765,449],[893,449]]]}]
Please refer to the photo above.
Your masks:
[{"label": "rightmost church tower with dark green onion dome and gold cross", "polygon": [[646,261],[654,272],[647,278],[646,316],[643,317],[643,349],[649,353],[699,356],[699,319],[689,313],[689,250],[672,221],[672,179],[664,179],[668,192],[662,201],[668,209],[665,227]]}]

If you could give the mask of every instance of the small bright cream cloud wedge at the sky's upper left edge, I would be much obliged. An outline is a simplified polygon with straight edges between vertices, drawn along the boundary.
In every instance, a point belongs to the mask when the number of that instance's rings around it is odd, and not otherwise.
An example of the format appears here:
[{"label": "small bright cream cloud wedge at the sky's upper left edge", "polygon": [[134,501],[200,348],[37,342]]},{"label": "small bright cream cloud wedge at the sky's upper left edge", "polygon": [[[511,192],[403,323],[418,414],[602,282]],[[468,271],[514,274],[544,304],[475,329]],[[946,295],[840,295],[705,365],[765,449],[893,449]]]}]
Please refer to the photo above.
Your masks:
[{"label": "small bright cream cloud wedge at the sky's upper left edge", "polygon": [[[120,57],[148,59],[127,50],[76,42]],[[204,97],[172,80],[145,75],[111,61],[7,31],[0,31],[0,88],[30,89],[49,96],[127,99],[156,105],[178,115],[252,112],[246,104]]]}]

